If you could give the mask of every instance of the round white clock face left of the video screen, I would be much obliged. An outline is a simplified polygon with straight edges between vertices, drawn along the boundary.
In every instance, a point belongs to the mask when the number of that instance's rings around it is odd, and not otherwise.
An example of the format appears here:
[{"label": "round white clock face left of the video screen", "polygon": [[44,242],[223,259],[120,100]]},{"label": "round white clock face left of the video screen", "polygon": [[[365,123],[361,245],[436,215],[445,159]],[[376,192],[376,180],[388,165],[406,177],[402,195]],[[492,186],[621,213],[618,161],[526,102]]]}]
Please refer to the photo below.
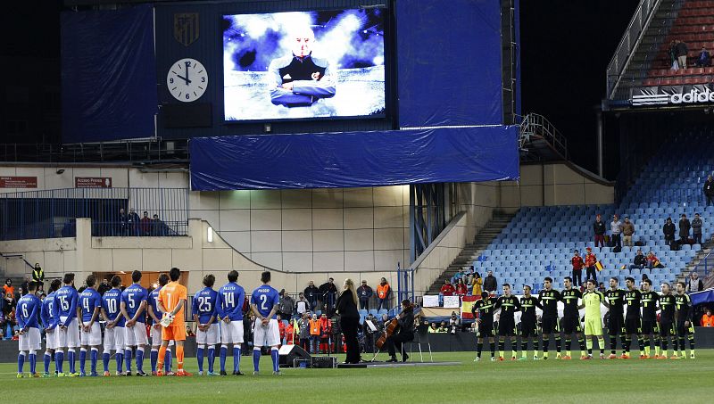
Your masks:
[{"label": "round white clock face left of the video screen", "polygon": [[201,98],[208,87],[208,72],[201,62],[186,58],[175,62],[166,75],[166,87],[179,101],[190,103]]}]

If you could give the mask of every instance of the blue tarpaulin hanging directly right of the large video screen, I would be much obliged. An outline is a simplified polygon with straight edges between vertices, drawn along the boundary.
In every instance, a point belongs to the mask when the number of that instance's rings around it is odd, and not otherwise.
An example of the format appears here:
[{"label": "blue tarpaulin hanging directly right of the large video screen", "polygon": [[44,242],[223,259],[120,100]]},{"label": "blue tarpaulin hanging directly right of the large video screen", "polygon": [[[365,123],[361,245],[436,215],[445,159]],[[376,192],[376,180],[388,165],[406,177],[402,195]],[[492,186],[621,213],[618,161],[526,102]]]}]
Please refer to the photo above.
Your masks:
[{"label": "blue tarpaulin hanging directly right of the large video screen", "polygon": [[503,122],[500,7],[397,0],[400,128]]}]

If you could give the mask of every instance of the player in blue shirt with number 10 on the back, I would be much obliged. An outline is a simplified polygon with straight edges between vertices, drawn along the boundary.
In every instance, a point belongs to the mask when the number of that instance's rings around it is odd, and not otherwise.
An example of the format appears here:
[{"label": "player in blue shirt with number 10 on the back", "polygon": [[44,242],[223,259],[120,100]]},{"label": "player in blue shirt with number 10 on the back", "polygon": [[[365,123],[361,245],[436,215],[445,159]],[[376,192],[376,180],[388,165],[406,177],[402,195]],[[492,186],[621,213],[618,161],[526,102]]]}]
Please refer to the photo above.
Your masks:
[{"label": "player in blue shirt with number 10 on the back", "polygon": [[102,353],[102,361],[104,362],[104,375],[109,374],[109,359],[112,357],[114,350],[114,359],[117,361],[116,375],[124,375],[122,365],[124,362],[124,331],[125,318],[121,314],[121,278],[118,275],[112,276],[109,281],[112,284],[112,289],[104,293],[102,296],[102,317],[106,322],[104,325],[104,352]]}]

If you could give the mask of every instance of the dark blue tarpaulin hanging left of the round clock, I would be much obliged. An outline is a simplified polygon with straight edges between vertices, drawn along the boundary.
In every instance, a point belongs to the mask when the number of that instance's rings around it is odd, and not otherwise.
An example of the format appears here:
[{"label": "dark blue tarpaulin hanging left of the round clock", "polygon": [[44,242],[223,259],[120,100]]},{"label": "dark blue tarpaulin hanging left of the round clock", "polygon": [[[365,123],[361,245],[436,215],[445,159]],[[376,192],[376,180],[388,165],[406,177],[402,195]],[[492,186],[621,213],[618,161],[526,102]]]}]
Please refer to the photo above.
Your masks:
[{"label": "dark blue tarpaulin hanging left of the round clock", "polygon": [[154,136],[151,4],[62,12],[62,141]]}]

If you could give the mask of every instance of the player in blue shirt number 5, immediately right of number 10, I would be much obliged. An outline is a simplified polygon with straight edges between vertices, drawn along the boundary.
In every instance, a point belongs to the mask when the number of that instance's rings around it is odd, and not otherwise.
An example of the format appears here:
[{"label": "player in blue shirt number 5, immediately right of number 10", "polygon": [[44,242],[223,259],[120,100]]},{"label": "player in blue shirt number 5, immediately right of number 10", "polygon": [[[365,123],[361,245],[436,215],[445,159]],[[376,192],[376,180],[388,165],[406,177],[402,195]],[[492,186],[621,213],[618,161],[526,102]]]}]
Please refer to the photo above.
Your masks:
[{"label": "player in blue shirt number 5, immediately right of number 10", "polygon": [[126,334],[124,342],[124,362],[127,365],[127,374],[131,375],[131,350],[137,348],[137,376],[145,376],[144,373],[144,350],[146,343],[146,327],[144,325],[146,309],[146,299],[148,293],[146,289],[139,284],[141,282],[141,272],[134,271],[131,273],[131,282],[124,292],[121,293],[121,314],[127,318],[127,323],[124,326]]}]

